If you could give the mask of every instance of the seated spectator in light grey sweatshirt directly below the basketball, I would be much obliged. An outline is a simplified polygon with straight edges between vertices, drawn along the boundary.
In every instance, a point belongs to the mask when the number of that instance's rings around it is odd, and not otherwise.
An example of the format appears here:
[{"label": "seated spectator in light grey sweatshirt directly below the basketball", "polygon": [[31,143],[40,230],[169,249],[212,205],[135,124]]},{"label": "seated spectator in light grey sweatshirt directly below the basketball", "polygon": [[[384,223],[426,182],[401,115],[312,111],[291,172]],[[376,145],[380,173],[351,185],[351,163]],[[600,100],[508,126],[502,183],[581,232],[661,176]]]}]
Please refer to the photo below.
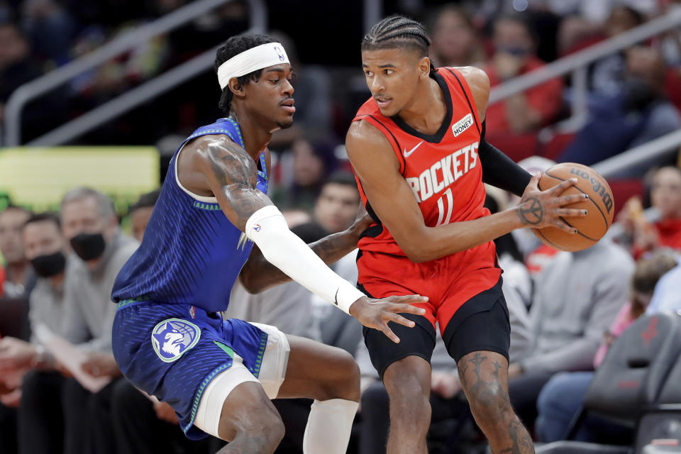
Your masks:
[{"label": "seated spectator in light grey sweatshirt directly below the basketball", "polygon": [[561,252],[536,279],[530,319],[533,347],[509,365],[509,397],[532,427],[539,391],[557,372],[592,370],[603,333],[626,301],[633,260],[600,240],[576,253]]}]

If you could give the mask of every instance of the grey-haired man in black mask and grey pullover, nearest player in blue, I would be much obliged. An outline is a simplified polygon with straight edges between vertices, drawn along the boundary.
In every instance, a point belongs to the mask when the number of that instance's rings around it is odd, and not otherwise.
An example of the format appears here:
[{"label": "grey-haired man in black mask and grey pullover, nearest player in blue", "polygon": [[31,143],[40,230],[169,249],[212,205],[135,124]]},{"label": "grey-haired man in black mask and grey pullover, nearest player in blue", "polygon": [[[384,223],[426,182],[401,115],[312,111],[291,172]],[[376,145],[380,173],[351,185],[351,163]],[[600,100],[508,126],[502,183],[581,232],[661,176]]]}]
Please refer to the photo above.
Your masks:
[{"label": "grey-haired man in black mask and grey pullover, nearest player in blue", "polygon": [[[94,377],[120,375],[111,353],[111,326],[116,305],[111,301],[114,279],[138,243],[123,236],[118,228],[114,205],[108,196],[94,189],[77,187],[65,194],[61,204],[62,234],[75,255],[64,279],[66,340],[86,353],[83,372]],[[112,453],[116,446],[109,396],[113,384],[93,394],[76,380],[65,378],[57,384],[43,375],[31,375],[23,382],[19,445],[21,453],[59,450],[52,439],[54,416],[64,415],[65,453]],[[34,398],[48,392],[50,399]],[[56,397],[56,398],[55,398]],[[49,446],[50,450],[43,450]]]}]

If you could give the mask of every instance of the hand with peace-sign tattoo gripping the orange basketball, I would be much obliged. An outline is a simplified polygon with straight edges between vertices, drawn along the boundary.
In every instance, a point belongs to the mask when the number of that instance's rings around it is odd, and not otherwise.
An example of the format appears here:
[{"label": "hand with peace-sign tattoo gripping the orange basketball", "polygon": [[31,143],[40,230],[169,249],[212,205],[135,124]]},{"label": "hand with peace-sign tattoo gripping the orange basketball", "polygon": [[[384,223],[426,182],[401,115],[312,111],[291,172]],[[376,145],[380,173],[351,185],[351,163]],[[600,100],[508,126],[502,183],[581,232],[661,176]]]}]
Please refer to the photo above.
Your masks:
[{"label": "hand with peace-sign tattoo gripping the orange basketball", "polygon": [[540,191],[538,182],[540,174],[533,175],[517,206],[521,223],[526,227],[544,228],[558,227],[567,233],[577,233],[577,229],[570,227],[563,218],[584,217],[587,211],[568,208],[570,204],[588,199],[587,194],[562,195],[565,189],[577,183],[576,178],[566,179],[546,191]]}]

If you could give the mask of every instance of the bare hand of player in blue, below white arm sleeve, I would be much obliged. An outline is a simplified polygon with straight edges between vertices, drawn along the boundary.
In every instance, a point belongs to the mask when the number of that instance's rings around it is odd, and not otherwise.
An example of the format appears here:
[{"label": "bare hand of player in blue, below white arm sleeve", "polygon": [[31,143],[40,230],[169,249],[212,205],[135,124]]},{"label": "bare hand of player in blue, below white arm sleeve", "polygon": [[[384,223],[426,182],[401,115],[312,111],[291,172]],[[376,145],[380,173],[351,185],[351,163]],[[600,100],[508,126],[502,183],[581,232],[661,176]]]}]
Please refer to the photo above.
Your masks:
[{"label": "bare hand of player in blue, below white arm sleeve", "polygon": [[421,295],[406,295],[404,297],[387,297],[383,299],[362,297],[350,306],[350,315],[358,319],[367,328],[382,331],[391,341],[399,343],[399,338],[392,332],[388,322],[394,321],[400,325],[413,328],[415,324],[413,321],[405,319],[398,314],[423,315],[426,313],[425,309],[411,306],[411,304],[426,302],[428,302],[428,297],[421,297]]}]

